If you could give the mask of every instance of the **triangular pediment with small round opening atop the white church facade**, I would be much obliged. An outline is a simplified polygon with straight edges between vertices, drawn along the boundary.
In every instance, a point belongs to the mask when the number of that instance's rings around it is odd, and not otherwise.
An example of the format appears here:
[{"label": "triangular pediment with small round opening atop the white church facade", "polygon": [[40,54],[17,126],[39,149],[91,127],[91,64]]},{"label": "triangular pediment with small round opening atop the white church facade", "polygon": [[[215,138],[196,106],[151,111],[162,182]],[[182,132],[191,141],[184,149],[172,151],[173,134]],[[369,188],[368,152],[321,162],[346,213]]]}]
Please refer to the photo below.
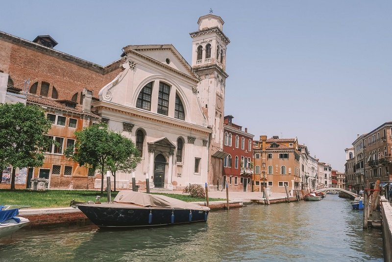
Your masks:
[{"label": "triangular pediment with small round opening atop the white church facade", "polygon": [[169,66],[189,77],[198,78],[192,67],[172,44],[127,45],[124,47],[124,55],[132,52],[142,54],[159,62],[162,66]]}]

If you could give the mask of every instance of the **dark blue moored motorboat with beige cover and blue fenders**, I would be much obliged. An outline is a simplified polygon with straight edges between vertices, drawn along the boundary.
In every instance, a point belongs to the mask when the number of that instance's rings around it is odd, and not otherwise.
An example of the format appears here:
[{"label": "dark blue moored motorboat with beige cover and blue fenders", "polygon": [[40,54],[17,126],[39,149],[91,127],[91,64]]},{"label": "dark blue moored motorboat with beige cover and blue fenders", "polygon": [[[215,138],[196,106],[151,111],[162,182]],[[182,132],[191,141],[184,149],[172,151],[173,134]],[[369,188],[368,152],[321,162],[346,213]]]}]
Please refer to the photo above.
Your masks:
[{"label": "dark blue moored motorboat with beige cover and blue fenders", "polygon": [[121,191],[113,202],[77,204],[94,224],[107,227],[143,227],[207,221],[209,207],[169,196]]}]

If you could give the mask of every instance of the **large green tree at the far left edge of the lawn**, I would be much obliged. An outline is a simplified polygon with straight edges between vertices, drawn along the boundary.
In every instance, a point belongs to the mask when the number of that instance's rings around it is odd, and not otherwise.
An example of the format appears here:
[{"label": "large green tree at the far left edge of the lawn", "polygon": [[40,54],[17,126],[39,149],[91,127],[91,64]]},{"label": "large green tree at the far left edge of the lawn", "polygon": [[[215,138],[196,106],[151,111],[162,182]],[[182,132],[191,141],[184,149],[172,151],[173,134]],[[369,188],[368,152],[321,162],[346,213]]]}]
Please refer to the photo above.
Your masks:
[{"label": "large green tree at the far left edge of the lawn", "polygon": [[16,168],[42,166],[44,154],[40,150],[50,143],[45,136],[50,128],[44,110],[37,106],[0,105],[0,169],[13,167],[11,189],[15,189]]}]

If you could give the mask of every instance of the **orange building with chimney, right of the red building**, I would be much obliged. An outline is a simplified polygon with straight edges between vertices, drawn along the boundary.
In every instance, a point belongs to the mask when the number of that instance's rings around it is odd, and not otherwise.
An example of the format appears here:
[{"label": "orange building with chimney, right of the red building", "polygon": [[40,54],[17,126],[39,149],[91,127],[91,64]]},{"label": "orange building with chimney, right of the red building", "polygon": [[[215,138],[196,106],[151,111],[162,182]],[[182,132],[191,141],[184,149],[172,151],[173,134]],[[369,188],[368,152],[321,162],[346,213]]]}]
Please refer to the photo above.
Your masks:
[{"label": "orange building with chimney, right of the red building", "polygon": [[255,174],[252,184],[255,191],[258,184],[259,190],[265,186],[274,193],[286,193],[287,186],[290,196],[293,196],[293,190],[300,189],[297,138],[273,136],[267,139],[266,135],[261,135],[260,140],[254,143],[253,153]]}]

